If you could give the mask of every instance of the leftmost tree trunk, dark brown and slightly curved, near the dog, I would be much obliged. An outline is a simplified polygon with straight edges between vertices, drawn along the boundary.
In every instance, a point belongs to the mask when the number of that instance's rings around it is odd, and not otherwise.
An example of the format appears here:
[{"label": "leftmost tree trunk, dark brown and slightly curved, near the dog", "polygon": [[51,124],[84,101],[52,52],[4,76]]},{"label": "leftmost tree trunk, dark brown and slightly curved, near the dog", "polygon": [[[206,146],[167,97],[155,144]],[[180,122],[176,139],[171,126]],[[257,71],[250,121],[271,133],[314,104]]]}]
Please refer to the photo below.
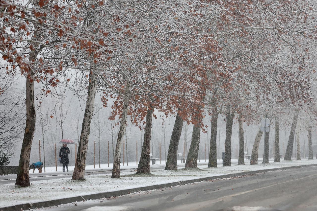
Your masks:
[{"label": "leftmost tree trunk, dark brown and slightly curved, near the dog", "polygon": [[[34,55],[35,56],[35,55]],[[32,61],[34,56],[30,56],[29,61]],[[35,104],[34,104],[34,73],[32,72],[33,68],[30,70],[30,78],[26,79],[26,96],[25,96],[25,105],[26,105],[26,124],[24,130],[24,137],[22,142],[21,154],[19,167],[16,175],[16,185],[21,187],[30,186],[29,179],[29,164],[30,164],[30,152],[31,145],[35,131]]]}]

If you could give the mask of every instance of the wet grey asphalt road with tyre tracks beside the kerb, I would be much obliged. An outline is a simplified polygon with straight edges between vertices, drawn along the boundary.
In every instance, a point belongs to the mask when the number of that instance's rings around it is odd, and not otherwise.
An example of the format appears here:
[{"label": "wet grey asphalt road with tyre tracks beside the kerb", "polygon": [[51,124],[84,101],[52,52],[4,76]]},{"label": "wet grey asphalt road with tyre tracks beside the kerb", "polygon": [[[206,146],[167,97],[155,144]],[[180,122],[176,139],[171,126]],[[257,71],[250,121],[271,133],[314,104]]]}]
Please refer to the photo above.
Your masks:
[{"label": "wet grey asphalt road with tyre tracks beside the kerb", "polygon": [[45,210],[317,210],[317,167],[180,185]]}]

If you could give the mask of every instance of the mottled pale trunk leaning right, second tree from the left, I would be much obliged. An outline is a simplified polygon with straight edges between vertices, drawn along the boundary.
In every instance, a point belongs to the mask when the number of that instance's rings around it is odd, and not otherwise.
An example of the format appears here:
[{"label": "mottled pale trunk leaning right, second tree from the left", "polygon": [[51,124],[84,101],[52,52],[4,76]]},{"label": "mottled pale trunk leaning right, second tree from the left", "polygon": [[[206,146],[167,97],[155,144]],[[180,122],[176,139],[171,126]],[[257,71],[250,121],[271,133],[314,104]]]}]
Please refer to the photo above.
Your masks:
[{"label": "mottled pale trunk leaning right, second tree from the left", "polygon": [[[93,71],[96,70],[96,66],[93,65]],[[88,149],[88,141],[90,135],[91,119],[94,112],[94,102],[96,96],[96,75],[92,71],[89,73],[89,84],[87,93],[87,102],[82,120],[81,135],[78,144],[77,157],[75,161],[75,168],[72,176],[72,180],[85,180],[86,169],[86,157]]]}]

